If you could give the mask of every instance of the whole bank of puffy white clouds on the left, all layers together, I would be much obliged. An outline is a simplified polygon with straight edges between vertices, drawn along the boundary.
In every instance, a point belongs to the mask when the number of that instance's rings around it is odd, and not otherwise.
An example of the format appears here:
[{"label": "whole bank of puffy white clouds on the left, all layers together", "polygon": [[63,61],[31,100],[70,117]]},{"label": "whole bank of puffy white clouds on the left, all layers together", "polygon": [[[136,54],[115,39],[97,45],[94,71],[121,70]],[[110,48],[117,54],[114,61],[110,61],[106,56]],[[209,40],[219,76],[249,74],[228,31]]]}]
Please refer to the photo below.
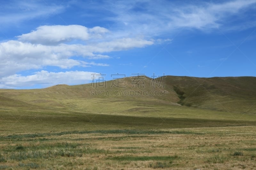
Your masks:
[{"label": "whole bank of puffy white clouds on the left, all layers together", "polygon": [[[63,72],[46,74],[43,71],[24,77],[16,74],[19,71],[42,69],[45,66],[56,66],[61,69],[71,69],[75,66],[109,66],[107,63],[95,63],[89,60],[108,59],[110,56],[105,53],[154,44],[153,41],[140,38],[104,39],[103,37],[108,32],[108,29],[99,26],[93,28],[80,25],[40,26],[30,33],[17,36],[17,40],[0,43],[0,60],[2,61],[0,63],[0,88],[15,87],[15,85],[19,87],[31,82],[41,84],[43,73],[44,82],[50,82],[51,79],[47,79],[49,75],[52,78],[52,76],[64,74]],[[72,59],[76,56],[88,61]],[[70,71],[65,72],[65,75],[71,77],[71,74],[74,74],[73,77],[76,77],[78,73],[81,74],[81,72]],[[55,80],[55,84],[60,83],[56,79],[52,80]],[[67,78],[64,78],[62,83],[65,80]],[[77,81],[80,82],[80,79]]]}]

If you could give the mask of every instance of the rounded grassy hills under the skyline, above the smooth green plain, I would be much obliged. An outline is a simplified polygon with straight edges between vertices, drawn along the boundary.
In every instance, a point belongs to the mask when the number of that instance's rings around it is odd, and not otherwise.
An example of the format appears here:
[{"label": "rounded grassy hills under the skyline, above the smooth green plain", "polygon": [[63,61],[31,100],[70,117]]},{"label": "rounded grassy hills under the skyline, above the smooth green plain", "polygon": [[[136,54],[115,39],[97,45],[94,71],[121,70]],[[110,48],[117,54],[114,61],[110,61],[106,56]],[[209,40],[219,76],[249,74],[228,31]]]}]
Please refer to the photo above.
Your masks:
[{"label": "rounded grassy hills under the skyline, above the smooth green plain", "polygon": [[[154,83],[158,84],[154,86]],[[101,84],[55,85],[31,90],[0,89],[1,109],[21,106],[101,114],[161,114],[170,112],[168,109],[174,107],[254,114],[256,78],[167,76],[165,79],[151,79],[141,76],[139,79],[129,77]],[[164,108],[168,109],[162,110]]]}]

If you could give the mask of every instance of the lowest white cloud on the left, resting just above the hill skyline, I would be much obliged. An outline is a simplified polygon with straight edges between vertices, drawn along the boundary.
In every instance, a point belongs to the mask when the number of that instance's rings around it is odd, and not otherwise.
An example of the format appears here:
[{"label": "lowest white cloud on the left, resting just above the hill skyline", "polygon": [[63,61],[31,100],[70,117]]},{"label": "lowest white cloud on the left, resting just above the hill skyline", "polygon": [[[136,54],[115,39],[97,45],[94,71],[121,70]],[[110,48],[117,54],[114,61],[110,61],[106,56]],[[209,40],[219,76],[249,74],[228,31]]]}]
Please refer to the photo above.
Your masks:
[{"label": "lowest white cloud on the left, resting just above the hill skyline", "polygon": [[14,74],[1,78],[0,88],[32,87],[37,84],[41,84],[44,87],[56,84],[85,84],[92,81],[92,74],[95,74],[95,72],[66,71],[56,73],[45,70],[35,72],[33,75],[29,76]]}]

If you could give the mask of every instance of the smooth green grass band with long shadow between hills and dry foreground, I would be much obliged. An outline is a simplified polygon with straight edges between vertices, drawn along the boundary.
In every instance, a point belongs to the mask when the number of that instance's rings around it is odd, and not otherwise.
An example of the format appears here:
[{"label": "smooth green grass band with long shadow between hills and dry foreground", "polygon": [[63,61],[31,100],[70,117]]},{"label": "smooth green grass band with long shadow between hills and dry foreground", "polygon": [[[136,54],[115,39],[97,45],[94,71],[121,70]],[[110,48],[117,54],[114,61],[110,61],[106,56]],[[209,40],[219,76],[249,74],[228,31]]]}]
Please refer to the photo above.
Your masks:
[{"label": "smooth green grass band with long shadow between hills and dry foreground", "polygon": [[[161,108],[159,108],[161,109]],[[170,110],[169,112],[168,109]],[[161,112],[84,113],[64,109],[0,109],[1,133],[164,129],[255,125],[255,116],[172,106]],[[157,113],[153,115],[154,113]]]}]

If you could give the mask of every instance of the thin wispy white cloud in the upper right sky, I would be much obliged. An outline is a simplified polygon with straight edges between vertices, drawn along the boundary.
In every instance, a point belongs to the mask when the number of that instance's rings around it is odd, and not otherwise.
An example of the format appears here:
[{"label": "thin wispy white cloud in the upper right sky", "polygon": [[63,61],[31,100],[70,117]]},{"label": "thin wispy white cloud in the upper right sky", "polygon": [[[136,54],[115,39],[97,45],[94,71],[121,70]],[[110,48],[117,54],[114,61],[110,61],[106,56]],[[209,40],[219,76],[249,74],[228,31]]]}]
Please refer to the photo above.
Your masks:
[{"label": "thin wispy white cloud in the upper right sky", "polygon": [[228,24],[228,17],[255,3],[255,0],[236,0],[221,4],[205,3],[203,6],[188,5],[175,10],[177,15],[170,16],[170,24],[197,29],[218,28]]}]

